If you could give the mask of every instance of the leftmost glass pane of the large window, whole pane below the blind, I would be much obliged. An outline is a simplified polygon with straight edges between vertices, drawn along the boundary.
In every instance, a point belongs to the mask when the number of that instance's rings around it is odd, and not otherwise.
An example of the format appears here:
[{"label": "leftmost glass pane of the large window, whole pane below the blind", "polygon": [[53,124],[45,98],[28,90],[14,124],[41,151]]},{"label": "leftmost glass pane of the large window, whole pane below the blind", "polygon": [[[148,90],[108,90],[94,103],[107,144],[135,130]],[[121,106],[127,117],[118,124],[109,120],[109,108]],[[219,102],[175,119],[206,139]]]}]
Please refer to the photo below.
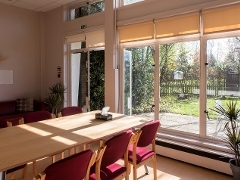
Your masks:
[{"label": "leftmost glass pane of the large window, whole pane below the blind", "polygon": [[154,47],[124,49],[124,113],[154,118]]}]

